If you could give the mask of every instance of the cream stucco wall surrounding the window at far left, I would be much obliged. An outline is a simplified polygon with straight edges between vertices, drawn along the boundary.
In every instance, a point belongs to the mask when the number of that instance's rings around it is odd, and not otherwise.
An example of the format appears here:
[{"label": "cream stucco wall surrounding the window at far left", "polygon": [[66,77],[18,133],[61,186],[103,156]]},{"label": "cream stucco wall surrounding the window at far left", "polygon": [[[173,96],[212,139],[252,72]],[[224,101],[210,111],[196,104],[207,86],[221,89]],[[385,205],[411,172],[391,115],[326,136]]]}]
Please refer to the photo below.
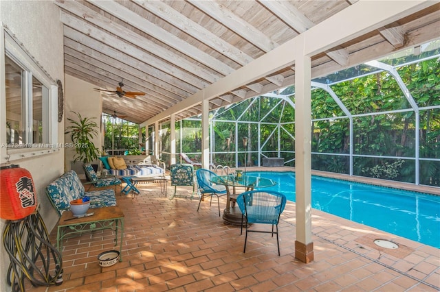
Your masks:
[{"label": "cream stucco wall surrounding the window at far left", "polygon": [[[0,1],[0,23],[7,26],[16,38],[23,43],[35,60],[47,71],[54,80],[64,82],[63,61],[63,25],[60,22],[59,9],[53,1]],[[4,86],[4,80],[0,80]],[[3,91],[4,92],[4,91]],[[3,105],[5,95],[1,95]],[[0,117],[5,119],[5,116]],[[58,141],[64,142],[64,121],[58,125]],[[0,132],[0,143],[5,143],[5,132]],[[5,151],[2,151],[4,154]],[[5,157],[1,157],[5,162]],[[28,169],[34,180],[37,202],[48,230],[52,230],[58,221],[58,215],[45,195],[45,187],[65,171],[64,150],[34,158],[14,160],[12,163]],[[1,206],[0,206],[1,208]],[[0,230],[3,233],[5,220],[0,220]],[[6,284],[6,273],[9,265],[3,241],[0,250],[0,291],[11,291]]]}]

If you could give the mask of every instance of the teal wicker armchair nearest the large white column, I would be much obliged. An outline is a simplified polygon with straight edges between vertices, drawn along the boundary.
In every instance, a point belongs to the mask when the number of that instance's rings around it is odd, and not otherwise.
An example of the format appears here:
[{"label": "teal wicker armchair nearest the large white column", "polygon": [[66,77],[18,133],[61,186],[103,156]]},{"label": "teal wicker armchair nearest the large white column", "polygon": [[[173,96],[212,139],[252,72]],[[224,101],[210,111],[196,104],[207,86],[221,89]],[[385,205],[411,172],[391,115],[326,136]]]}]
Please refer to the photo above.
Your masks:
[{"label": "teal wicker armchair nearest the large white column", "polygon": [[[241,193],[236,198],[236,204],[241,210],[241,233],[243,233],[243,225],[246,229],[245,247],[243,253],[246,252],[246,242],[248,241],[248,232],[270,233],[272,237],[276,234],[276,244],[278,245],[278,256],[280,255],[280,242],[278,240],[278,222],[281,213],[286,206],[286,197],[282,193],[275,191],[248,191]],[[243,222],[244,219],[244,222]],[[250,223],[272,224],[271,231],[250,230]],[[274,231],[274,226],[276,231]]]}]

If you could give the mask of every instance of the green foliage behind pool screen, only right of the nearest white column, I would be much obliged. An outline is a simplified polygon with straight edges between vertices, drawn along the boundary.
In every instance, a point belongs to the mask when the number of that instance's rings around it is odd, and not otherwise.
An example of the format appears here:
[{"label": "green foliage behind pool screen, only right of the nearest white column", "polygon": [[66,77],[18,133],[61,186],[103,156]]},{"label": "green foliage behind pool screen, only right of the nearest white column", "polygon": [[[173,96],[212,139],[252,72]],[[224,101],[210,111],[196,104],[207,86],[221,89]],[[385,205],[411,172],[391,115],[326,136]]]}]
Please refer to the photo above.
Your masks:
[{"label": "green foliage behind pool screen, only right of the nearest white column", "polygon": [[[402,81],[418,107],[440,104],[440,63],[426,60],[398,69]],[[364,115],[353,119],[353,153],[356,155],[415,157],[415,123],[417,115],[399,88],[394,77],[386,72],[375,73],[331,86],[351,114],[386,112]],[[344,116],[325,90],[312,92],[313,119]],[[390,114],[391,110],[406,110]],[[440,157],[440,110],[419,112],[420,158]],[[349,119],[318,120],[312,125],[312,151],[346,154],[349,149]],[[330,162],[329,162],[330,160]],[[340,163],[338,160],[334,163]],[[414,182],[414,160],[384,158],[355,159],[356,175],[388,180]],[[329,171],[344,171],[333,165],[332,159],[315,158],[312,167]],[[423,184],[439,185],[439,162],[421,162],[420,179]],[[391,174],[392,173],[392,174]]]}]

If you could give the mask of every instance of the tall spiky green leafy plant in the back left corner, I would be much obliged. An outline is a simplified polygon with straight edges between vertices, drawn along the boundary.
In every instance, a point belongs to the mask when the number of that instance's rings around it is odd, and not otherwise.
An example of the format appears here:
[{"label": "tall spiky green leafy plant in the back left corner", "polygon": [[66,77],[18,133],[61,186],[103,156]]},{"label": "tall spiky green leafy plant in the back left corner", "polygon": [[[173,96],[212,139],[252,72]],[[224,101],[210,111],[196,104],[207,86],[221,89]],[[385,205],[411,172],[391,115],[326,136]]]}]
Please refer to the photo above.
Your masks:
[{"label": "tall spiky green leafy plant in the back left corner", "polygon": [[99,149],[96,148],[93,143],[93,138],[98,136],[98,124],[92,119],[95,118],[83,118],[78,112],[74,112],[78,117],[78,121],[67,118],[67,121],[72,123],[69,127],[66,127],[65,134],[70,134],[72,142],[76,150],[74,156],[74,162],[91,163],[98,159],[100,154]]}]

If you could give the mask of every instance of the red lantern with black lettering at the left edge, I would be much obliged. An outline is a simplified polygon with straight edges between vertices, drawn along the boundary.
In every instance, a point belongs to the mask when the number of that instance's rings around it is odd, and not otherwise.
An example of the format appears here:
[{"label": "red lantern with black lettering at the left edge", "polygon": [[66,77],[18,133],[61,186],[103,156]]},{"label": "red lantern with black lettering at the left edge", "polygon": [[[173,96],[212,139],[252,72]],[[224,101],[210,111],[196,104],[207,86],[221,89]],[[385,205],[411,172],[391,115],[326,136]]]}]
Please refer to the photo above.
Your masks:
[{"label": "red lantern with black lettering at the left edge", "polygon": [[0,169],[0,218],[19,220],[36,209],[35,186],[32,175],[18,165]]}]

